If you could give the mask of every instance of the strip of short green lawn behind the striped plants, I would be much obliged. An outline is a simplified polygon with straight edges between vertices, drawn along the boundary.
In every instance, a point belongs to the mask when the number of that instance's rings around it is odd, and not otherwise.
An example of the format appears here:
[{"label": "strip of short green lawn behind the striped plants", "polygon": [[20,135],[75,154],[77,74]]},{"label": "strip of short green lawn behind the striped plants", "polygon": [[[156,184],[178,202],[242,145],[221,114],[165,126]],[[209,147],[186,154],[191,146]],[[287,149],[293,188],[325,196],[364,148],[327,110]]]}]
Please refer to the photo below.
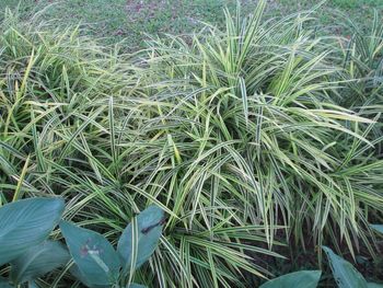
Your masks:
[{"label": "strip of short green lawn behind the striped plants", "polygon": [[[19,0],[2,0],[0,10],[8,5],[15,8]],[[251,13],[257,1],[241,0],[243,11]],[[268,0],[267,14],[281,16],[317,4],[314,0],[290,1]],[[234,0],[23,0],[20,12],[23,15],[46,9],[46,19],[57,21],[57,25],[82,23],[85,32],[103,37],[105,43],[115,44],[125,39],[130,50],[143,46],[146,34],[184,34],[208,22],[221,26],[224,24],[222,9],[234,11]],[[344,13],[358,24],[370,26],[373,10],[383,12],[383,0],[329,0],[316,13],[318,24],[328,27],[335,34],[347,36],[338,23]]]}]

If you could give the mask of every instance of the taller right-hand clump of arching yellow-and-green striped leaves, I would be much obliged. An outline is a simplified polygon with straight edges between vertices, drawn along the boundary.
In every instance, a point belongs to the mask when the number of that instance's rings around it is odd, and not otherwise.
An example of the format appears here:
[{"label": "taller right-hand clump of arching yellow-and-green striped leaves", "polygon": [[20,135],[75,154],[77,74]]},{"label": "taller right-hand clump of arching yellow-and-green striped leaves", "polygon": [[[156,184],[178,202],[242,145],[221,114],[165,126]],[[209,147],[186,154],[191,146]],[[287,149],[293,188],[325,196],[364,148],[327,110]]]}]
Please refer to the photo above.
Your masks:
[{"label": "taller right-hand clump of arching yellow-and-green striped leaves", "polygon": [[156,145],[156,154],[151,165],[136,164],[139,177],[166,183],[169,199],[193,219],[208,200],[234,203],[240,219],[264,226],[269,246],[268,228],[286,226],[298,246],[345,239],[355,253],[359,238],[373,254],[363,211],[379,211],[383,200],[373,193],[383,171],[373,154],[382,138],[369,140],[375,123],[335,104],[340,83],[329,79],[341,68],[328,39],[302,28],[310,14],[271,25],[263,10],[243,22],[227,12],[225,31],[206,28],[192,44],[152,43],[148,82],[158,83],[159,113],[148,119],[146,148]]}]

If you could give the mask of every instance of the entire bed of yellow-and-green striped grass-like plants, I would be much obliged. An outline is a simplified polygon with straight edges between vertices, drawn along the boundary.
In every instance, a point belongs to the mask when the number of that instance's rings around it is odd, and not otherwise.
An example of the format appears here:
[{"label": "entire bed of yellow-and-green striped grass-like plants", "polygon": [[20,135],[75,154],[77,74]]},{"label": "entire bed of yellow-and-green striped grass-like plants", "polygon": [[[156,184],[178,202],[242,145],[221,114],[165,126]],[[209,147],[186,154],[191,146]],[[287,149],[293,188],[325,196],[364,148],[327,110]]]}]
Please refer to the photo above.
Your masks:
[{"label": "entire bed of yellow-and-green striped grass-like plants", "polygon": [[[383,207],[381,20],[329,37],[311,10],[275,20],[265,9],[225,10],[222,26],[153,36],[134,54],[7,10],[0,204],[61,196],[65,221],[117,247],[156,205],[163,235],[129,279],[148,287],[258,287],[302,269],[278,270],[302,253],[332,287],[323,245],[382,280],[370,226]],[[37,287],[78,287],[69,269]]]}]

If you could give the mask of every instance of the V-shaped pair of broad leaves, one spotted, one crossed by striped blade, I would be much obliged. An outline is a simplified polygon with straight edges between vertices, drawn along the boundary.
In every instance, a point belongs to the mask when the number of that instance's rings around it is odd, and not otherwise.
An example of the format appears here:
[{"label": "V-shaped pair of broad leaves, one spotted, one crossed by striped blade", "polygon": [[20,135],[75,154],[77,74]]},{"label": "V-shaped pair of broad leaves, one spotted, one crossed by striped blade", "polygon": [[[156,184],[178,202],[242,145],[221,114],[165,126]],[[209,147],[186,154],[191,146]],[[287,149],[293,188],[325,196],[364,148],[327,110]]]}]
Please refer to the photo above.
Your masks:
[{"label": "V-shaped pair of broad leaves, one spotted, one crossed by striped blade", "polygon": [[139,214],[123,232],[118,253],[102,234],[61,221],[62,235],[76,263],[72,274],[88,287],[116,285],[127,276],[130,284],[135,270],[153,254],[163,219],[164,211],[154,205]]}]

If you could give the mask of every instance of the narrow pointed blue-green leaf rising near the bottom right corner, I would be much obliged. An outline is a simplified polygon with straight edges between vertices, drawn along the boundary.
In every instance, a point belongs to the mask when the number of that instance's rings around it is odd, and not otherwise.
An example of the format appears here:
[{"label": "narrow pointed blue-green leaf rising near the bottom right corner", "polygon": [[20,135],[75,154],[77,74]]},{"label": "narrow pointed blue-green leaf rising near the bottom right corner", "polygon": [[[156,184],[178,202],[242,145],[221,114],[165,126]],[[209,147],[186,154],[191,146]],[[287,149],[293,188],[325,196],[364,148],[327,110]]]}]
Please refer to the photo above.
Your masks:
[{"label": "narrow pointed blue-green leaf rising near the bottom right corner", "polygon": [[329,247],[323,246],[329,261],[335,281],[339,288],[367,288],[363,276],[346,260],[336,255]]}]

